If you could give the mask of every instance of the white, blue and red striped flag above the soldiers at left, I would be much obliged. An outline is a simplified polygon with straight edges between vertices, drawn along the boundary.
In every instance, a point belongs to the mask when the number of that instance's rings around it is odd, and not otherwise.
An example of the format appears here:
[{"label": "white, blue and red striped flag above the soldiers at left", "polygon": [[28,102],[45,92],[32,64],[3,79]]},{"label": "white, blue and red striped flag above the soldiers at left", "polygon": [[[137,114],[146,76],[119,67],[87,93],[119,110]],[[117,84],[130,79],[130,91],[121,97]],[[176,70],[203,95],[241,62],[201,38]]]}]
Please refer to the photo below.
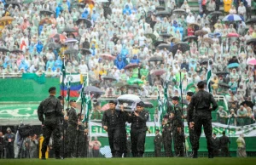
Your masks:
[{"label": "white, blue and red striped flag above the soldiers at left", "polygon": [[[67,87],[61,85],[61,94],[64,93],[64,96],[67,95],[67,91],[69,92],[70,97],[79,97],[79,90],[83,87],[83,76],[82,75],[68,75],[64,78],[64,84],[67,83]],[[62,77],[61,77],[61,84]]]}]

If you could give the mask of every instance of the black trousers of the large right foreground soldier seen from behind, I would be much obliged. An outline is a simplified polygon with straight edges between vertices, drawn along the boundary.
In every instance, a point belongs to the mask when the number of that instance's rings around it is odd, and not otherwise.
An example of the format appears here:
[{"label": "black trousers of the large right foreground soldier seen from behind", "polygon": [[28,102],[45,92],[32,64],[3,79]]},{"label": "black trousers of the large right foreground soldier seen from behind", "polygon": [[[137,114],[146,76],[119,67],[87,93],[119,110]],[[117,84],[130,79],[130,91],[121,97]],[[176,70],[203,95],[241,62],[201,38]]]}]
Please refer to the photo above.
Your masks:
[{"label": "black trousers of the large right foreground soldier seen from behind", "polygon": [[203,126],[207,138],[207,149],[212,153],[212,117],[195,117],[193,150],[198,151],[201,127]]}]

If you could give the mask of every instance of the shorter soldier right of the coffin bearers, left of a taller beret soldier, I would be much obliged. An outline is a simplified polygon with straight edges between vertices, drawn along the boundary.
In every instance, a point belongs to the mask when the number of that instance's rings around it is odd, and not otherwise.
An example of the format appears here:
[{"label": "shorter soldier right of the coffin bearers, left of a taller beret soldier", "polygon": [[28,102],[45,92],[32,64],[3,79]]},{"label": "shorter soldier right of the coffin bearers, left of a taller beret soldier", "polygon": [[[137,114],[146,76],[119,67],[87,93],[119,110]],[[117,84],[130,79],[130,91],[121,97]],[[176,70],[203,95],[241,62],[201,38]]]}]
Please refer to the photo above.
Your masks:
[{"label": "shorter soldier right of the coffin bearers, left of a taller beret soldier", "polygon": [[165,149],[166,157],[172,157],[172,119],[174,113],[171,112],[170,117],[166,115],[162,122],[162,133],[163,133],[163,143]]}]

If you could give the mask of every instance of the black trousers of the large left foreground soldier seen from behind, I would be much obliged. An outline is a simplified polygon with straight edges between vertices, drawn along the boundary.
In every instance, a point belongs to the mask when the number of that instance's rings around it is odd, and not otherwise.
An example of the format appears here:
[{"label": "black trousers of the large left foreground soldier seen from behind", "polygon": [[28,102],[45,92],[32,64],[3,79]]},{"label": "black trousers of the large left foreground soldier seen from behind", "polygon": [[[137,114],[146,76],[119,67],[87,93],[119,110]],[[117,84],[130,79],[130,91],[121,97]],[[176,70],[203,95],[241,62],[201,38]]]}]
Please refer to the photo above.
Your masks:
[{"label": "black trousers of the large left foreground soldier seen from behind", "polygon": [[44,125],[43,127],[43,136],[44,141],[42,145],[42,156],[45,156],[45,152],[47,151],[47,146],[49,144],[49,139],[53,134],[53,148],[55,149],[55,156],[60,156],[61,150],[61,126],[60,125]]}]

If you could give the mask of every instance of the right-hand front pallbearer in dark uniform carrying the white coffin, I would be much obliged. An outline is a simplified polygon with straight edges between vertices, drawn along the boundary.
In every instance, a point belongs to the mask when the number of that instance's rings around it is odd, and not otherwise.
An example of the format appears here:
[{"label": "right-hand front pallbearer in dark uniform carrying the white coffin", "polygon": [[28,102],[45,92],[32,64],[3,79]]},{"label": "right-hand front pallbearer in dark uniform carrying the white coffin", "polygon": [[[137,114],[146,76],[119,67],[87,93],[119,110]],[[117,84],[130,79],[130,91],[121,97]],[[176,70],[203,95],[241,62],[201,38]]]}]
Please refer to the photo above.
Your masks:
[{"label": "right-hand front pallbearer in dark uniform carrying the white coffin", "polygon": [[128,122],[131,123],[131,154],[133,157],[143,157],[146,132],[148,130],[148,112],[144,111],[143,101],[137,103],[137,110],[129,114]]}]

